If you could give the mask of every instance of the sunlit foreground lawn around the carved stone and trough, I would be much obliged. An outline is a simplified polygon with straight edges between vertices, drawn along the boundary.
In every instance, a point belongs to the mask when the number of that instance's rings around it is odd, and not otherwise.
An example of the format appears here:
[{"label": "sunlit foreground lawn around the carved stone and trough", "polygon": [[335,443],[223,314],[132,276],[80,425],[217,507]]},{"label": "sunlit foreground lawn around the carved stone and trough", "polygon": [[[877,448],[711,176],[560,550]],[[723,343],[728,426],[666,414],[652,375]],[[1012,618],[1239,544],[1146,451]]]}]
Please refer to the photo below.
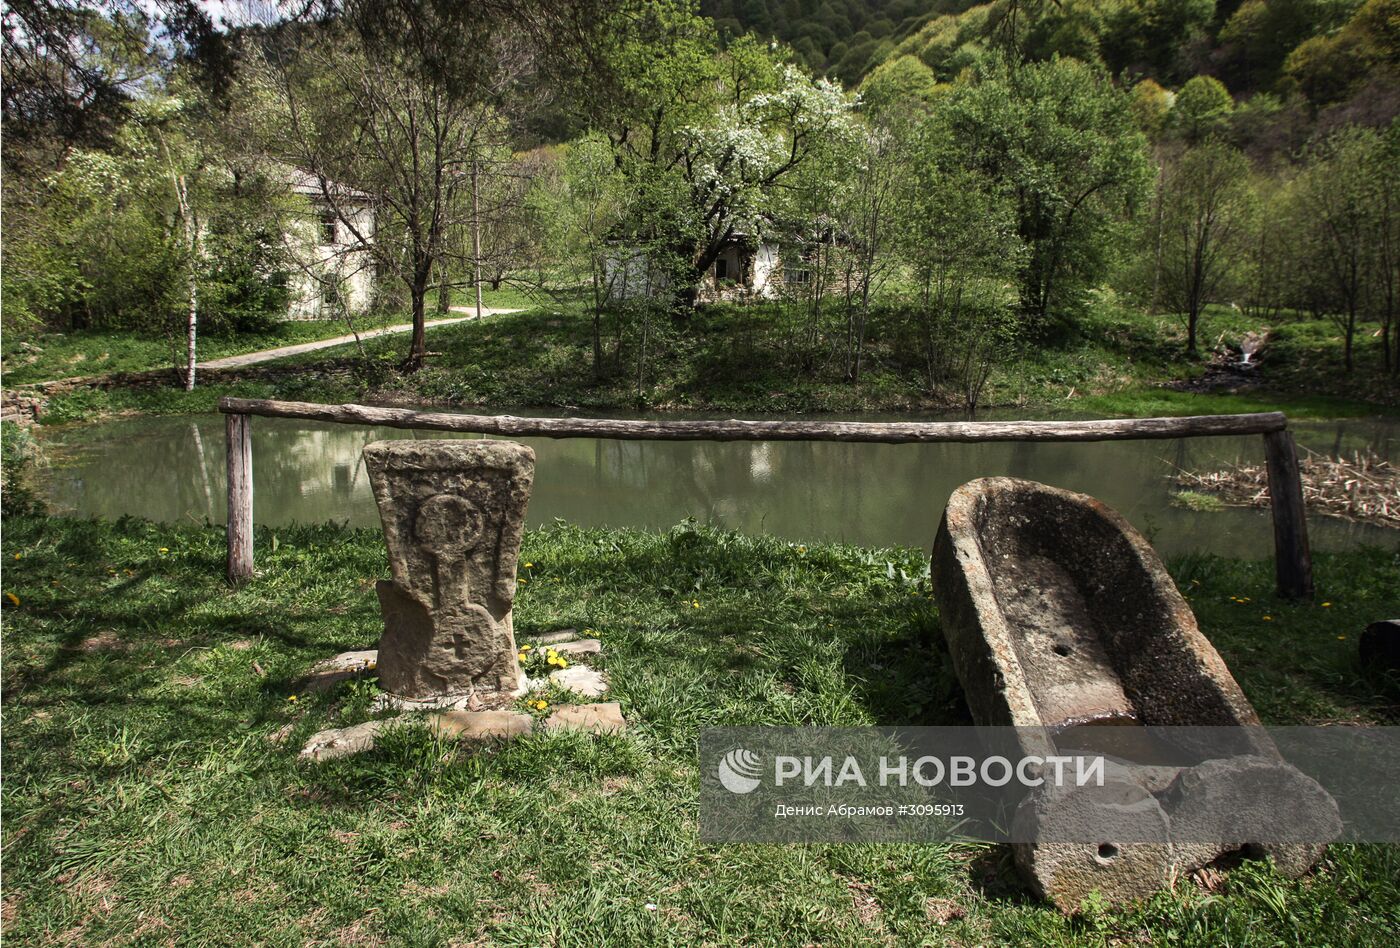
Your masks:
[{"label": "sunlit foreground lawn around the carved stone and trough", "polygon": [[[629,734],[468,753],[410,730],[307,767],[312,731],[368,716],[365,683],[288,697],[312,661],[375,641],[384,541],[258,541],[259,578],[230,591],[218,528],[6,520],[8,938],[1246,945],[1385,944],[1400,926],[1394,847],[1067,920],[998,847],[701,844],[706,727],[966,720],[920,550],[532,531],[517,633],[596,630]],[[1320,555],[1317,605],[1275,602],[1268,563],[1175,573],[1267,721],[1400,723],[1355,665],[1359,629],[1400,605],[1393,553]]]}]

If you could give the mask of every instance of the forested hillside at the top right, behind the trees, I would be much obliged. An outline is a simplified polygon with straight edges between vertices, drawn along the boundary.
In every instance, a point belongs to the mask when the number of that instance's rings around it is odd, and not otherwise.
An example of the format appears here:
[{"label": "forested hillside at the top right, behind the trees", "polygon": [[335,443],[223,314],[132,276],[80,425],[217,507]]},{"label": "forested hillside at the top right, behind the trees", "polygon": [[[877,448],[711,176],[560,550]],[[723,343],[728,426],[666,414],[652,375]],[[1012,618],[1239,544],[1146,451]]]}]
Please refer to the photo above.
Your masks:
[{"label": "forested hillside at the top right, behind the trees", "polygon": [[[941,81],[1014,45],[1070,56],[1123,81],[1175,88],[1219,80],[1249,101],[1252,134],[1292,140],[1327,125],[1380,125],[1400,111],[1397,0],[704,0],[722,32],[792,46],[813,71],[854,85],[878,69],[927,67]],[[909,59],[906,59],[909,57]],[[904,60],[904,62],[900,62]]]}]

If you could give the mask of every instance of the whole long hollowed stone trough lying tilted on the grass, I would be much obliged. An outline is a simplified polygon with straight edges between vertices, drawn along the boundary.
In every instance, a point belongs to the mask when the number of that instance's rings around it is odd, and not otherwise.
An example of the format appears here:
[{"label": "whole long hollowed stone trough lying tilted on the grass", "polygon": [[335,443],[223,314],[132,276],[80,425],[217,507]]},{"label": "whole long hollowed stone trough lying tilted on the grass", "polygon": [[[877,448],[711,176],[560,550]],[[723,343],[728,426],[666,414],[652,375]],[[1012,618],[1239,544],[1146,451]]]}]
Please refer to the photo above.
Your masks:
[{"label": "whole long hollowed stone trough lying tilted on the grass", "polygon": [[932,581],[979,725],[1019,728],[1023,755],[1113,748],[1103,787],[1040,790],[1015,815],[1014,836],[1036,840],[1015,846],[1016,864],[1061,909],[1093,891],[1147,898],[1232,853],[1298,875],[1340,832],[1334,801],[1280,758],[1155,550],[1100,501],[1012,478],[963,485]]}]

